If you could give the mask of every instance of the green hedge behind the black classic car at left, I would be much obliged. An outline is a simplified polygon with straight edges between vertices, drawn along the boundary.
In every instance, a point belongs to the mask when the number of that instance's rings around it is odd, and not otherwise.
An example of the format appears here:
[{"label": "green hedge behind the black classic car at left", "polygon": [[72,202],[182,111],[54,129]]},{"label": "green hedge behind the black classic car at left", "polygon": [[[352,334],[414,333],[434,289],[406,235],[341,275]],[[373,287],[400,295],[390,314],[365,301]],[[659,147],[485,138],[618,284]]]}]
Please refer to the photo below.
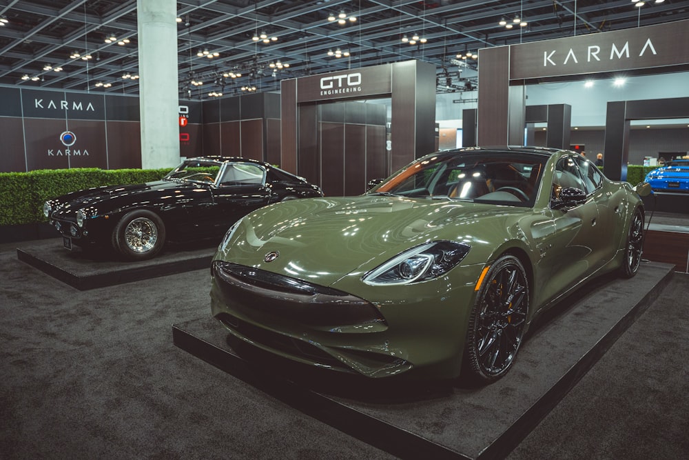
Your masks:
[{"label": "green hedge behind the black classic car at left", "polygon": [[157,181],[170,169],[72,168],[0,172],[0,226],[45,222],[43,202],[47,199],[83,188]]}]

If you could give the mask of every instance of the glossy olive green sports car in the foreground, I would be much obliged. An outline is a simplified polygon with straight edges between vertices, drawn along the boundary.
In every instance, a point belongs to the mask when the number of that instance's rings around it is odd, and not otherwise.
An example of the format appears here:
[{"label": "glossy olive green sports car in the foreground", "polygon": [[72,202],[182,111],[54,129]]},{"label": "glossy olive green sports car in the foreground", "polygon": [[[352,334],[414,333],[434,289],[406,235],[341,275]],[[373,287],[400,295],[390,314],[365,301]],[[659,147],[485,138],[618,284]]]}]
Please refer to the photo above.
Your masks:
[{"label": "glossy olive green sports car in the foreground", "polygon": [[361,196],[238,221],[212,262],[212,314],[311,366],[488,383],[537,314],[600,274],[634,276],[646,185],[566,150],[429,154]]}]

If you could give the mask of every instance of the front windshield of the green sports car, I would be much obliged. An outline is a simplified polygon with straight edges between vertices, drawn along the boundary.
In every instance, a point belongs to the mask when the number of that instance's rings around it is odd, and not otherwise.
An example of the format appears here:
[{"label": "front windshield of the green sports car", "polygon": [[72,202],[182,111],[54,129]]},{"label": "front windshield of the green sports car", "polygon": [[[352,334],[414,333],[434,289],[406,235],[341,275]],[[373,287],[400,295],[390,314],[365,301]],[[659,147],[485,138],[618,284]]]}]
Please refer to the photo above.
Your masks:
[{"label": "front windshield of the green sports car", "polygon": [[517,152],[439,153],[411,163],[369,194],[533,206],[547,159]]}]

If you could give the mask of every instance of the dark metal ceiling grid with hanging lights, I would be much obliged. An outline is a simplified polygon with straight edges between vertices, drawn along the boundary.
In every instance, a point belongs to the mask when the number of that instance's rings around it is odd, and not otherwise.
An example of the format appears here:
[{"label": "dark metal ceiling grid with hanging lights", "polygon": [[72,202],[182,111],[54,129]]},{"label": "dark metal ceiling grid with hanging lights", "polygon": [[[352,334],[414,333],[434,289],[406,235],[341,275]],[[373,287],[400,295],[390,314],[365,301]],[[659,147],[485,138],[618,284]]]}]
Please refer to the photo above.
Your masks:
[{"label": "dark metal ceiling grid with hanging lights", "polygon": [[[438,92],[464,91],[466,81],[475,88],[478,63],[457,53],[687,19],[689,1],[650,0],[639,8],[629,0],[185,0],[177,11],[180,94],[205,99],[209,92],[278,90],[283,78],[407,59],[435,64]],[[357,20],[328,21],[340,11]],[[528,25],[498,24],[515,16]],[[138,94],[138,81],[122,78],[138,71],[136,0],[0,0],[0,17],[7,19],[0,27],[1,84]],[[261,32],[277,40],[253,41]],[[405,34],[426,43],[403,43]],[[105,43],[110,35],[129,43]],[[351,54],[328,55],[338,48]],[[199,57],[203,50],[218,57]],[[70,58],[74,52],[80,56]],[[87,53],[92,59],[83,60]],[[269,66],[278,60],[289,68]],[[468,71],[457,72],[457,62]],[[223,77],[229,72],[242,77]],[[191,86],[192,79],[203,86]]]}]

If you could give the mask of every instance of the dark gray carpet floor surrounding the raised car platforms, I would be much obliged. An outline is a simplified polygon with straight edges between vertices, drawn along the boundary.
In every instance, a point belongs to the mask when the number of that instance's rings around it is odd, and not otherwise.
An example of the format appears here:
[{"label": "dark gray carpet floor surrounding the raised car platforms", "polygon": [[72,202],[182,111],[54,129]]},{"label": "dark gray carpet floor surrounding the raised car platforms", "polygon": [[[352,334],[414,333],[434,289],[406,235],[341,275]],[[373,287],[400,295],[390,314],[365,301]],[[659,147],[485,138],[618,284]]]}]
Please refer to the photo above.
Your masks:
[{"label": "dark gray carpet floor surrounding the raised car platforms", "polygon": [[[392,457],[173,346],[208,290],[196,270],[78,291],[1,245],[0,459]],[[677,273],[509,458],[688,458],[688,304]]]}]

